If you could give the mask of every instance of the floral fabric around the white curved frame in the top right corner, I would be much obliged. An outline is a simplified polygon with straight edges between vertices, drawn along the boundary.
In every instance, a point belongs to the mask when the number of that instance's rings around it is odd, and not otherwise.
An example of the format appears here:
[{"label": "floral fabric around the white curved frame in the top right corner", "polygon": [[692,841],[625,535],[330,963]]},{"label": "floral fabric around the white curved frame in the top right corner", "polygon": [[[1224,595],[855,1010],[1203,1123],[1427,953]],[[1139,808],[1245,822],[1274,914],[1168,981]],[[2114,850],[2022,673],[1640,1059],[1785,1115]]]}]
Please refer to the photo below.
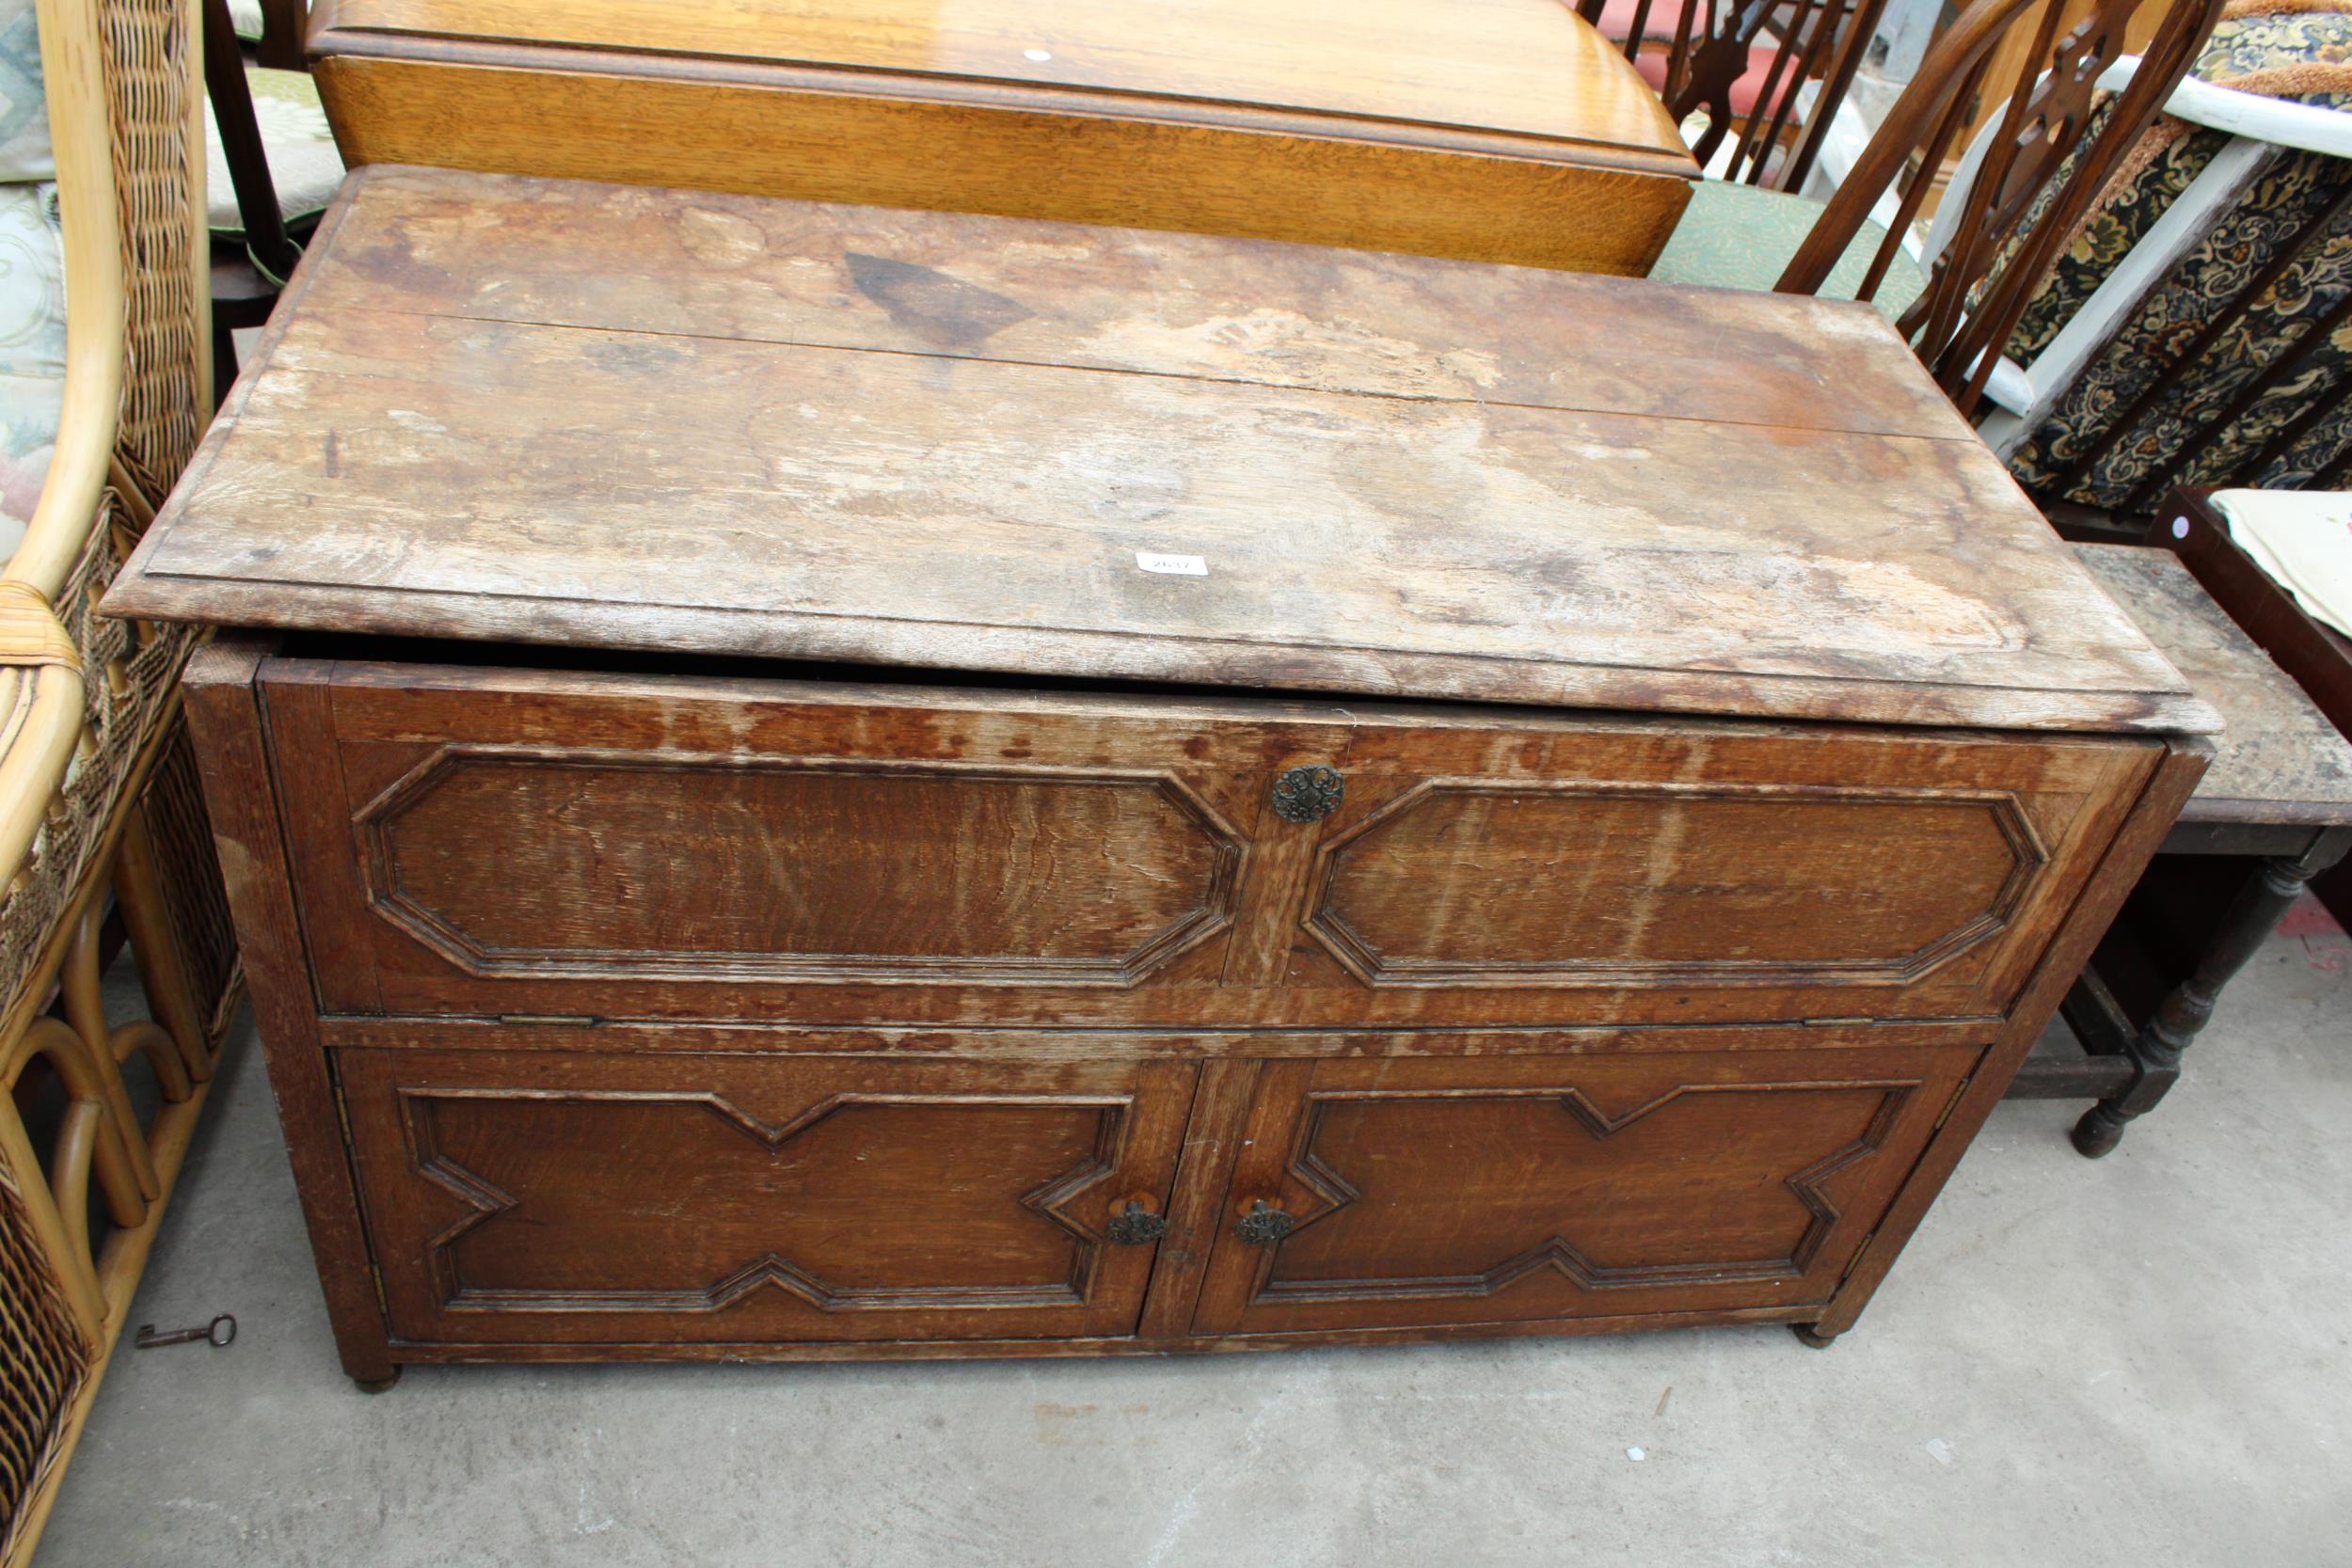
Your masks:
[{"label": "floral fabric around the white curved frame in the top right corner", "polygon": [[[2194,71],[2267,96],[2352,108],[2352,9],[2328,9],[2324,0],[2239,0]],[[2126,167],[2072,235],[2018,322],[2009,355],[2030,362],[2042,353],[2223,146],[2225,132],[2159,122],[2136,148],[2136,167]],[[2352,294],[2352,209],[2328,221],[2194,362],[2187,355],[2347,183],[2352,165],[2345,160],[2277,158],[2011,456],[2018,480],[2051,501],[2145,510],[2154,489],[2173,482],[2296,489],[2326,470],[2352,447],[2352,397],[2345,395],[2352,388],[2352,320],[2338,322],[2324,341],[2310,334]],[[2227,418],[2249,383],[2281,360],[2291,364],[2244,414]],[[2154,400],[2133,414],[2150,388],[2159,388]]]}]

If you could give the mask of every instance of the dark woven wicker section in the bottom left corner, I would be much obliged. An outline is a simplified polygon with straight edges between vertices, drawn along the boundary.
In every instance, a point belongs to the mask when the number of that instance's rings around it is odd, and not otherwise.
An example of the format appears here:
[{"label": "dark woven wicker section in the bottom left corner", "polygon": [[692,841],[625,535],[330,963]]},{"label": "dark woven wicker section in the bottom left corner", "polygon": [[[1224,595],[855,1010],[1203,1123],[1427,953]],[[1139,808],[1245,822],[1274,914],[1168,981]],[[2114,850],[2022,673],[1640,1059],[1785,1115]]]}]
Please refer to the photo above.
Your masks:
[{"label": "dark woven wicker section in the bottom left corner", "polygon": [[[9,1114],[14,1107],[0,1105],[0,1117]],[[16,1549],[26,1505],[56,1465],[66,1413],[87,1378],[89,1347],[0,1157],[0,1559]]]}]

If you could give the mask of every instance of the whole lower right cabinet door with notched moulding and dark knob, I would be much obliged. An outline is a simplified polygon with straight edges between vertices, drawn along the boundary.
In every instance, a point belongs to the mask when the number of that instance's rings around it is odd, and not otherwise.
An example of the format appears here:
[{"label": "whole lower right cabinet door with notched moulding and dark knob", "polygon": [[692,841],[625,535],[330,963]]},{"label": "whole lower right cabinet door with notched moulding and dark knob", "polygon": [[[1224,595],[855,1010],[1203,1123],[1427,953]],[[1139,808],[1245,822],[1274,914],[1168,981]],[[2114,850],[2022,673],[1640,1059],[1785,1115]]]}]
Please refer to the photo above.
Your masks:
[{"label": "whole lower right cabinet door with notched moulding and dark knob", "polygon": [[1976,1056],[1270,1063],[1195,1331],[1825,1302]]}]

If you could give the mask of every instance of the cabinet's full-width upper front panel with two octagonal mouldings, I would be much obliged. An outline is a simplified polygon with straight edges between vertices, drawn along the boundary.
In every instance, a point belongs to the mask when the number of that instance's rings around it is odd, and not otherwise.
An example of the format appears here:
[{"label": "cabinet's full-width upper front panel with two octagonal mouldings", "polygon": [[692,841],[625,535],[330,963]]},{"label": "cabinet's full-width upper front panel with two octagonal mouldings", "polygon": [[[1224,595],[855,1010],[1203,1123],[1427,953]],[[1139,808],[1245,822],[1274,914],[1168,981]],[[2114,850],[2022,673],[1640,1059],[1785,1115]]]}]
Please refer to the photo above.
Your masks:
[{"label": "cabinet's full-width upper front panel with two octagonal mouldings", "polygon": [[2154,755],[1529,710],[273,661],[329,1013],[1987,1018]]}]

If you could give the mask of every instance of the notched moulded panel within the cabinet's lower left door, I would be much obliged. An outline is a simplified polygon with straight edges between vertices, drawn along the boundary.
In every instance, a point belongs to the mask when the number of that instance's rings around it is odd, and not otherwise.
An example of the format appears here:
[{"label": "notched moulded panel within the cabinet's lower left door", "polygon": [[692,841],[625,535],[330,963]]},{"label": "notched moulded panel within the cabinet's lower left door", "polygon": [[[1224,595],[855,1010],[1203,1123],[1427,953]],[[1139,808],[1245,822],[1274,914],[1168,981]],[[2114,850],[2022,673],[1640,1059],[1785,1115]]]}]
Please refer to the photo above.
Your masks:
[{"label": "notched moulded panel within the cabinet's lower left door", "polygon": [[[1082,1307],[1129,1103],[837,1093],[764,1124],[724,1093],[400,1091],[456,1312]],[[612,1159],[626,1147],[635,1159]],[[953,1232],[960,1246],[938,1246]]]}]

